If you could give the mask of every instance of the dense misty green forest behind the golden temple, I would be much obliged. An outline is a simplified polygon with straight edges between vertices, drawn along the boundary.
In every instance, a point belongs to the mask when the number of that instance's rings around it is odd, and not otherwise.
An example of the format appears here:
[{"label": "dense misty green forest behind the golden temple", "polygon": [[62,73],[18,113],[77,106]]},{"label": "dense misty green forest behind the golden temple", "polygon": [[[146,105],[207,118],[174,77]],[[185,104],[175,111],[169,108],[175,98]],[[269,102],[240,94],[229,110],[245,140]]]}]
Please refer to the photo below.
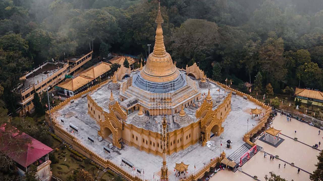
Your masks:
[{"label": "dense misty green forest behind the golden temple", "polygon": [[[147,57],[158,0],[0,1],[1,106],[23,72],[46,60],[94,50]],[[323,89],[323,1],[162,0],[165,46],[178,67],[263,91]],[[210,66],[212,65],[212,66]]]}]

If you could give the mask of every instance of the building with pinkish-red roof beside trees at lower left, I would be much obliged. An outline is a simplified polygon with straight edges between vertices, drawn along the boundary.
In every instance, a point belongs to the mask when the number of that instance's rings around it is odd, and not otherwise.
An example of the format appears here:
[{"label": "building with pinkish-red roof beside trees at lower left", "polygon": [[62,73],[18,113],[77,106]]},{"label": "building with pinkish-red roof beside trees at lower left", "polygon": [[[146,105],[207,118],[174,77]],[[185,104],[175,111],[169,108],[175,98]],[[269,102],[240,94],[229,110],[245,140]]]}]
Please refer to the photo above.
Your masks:
[{"label": "building with pinkish-red roof beside trees at lower left", "polygon": [[[0,127],[0,136],[1,132],[5,131],[5,125]],[[29,170],[31,164],[37,166],[37,177],[42,181],[50,181],[52,178],[52,172],[50,171],[51,161],[48,159],[48,153],[53,151],[52,148],[46,146],[35,138],[27,135],[26,133],[13,133],[13,138],[28,140],[22,147],[22,154],[16,156],[16,154],[8,154],[8,157],[13,159],[16,162],[16,167],[21,176]],[[0,151],[6,151],[8,147],[0,147]]]}]

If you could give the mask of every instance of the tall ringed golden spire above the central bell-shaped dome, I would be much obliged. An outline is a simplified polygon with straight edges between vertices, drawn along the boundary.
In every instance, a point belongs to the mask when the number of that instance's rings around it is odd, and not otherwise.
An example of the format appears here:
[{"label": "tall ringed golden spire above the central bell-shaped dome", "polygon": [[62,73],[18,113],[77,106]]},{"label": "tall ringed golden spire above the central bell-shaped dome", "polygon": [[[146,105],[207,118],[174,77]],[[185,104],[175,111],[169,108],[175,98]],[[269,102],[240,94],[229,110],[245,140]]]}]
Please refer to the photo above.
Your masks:
[{"label": "tall ringed golden spire above the central bell-shaped dome", "polygon": [[165,45],[164,45],[164,36],[162,35],[161,24],[164,23],[164,20],[161,17],[161,2],[158,2],[158,14],[155,20],[157,23],[156,36],[155,36],[155,46],[154,46],[154,55],[155,56],[164,56],[166,53]]}]

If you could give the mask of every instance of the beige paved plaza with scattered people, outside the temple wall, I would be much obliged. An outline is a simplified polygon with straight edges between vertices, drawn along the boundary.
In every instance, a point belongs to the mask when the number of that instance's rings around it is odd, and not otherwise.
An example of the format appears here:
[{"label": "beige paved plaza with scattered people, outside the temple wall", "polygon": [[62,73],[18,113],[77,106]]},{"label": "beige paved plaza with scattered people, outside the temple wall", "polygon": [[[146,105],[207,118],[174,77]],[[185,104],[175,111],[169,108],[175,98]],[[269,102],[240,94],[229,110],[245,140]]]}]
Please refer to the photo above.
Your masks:
[{"label": "beige paved plaza with scattered people, outside the temple wall", "polygon": [[[277,148],[257,140],[256,143],[268,153],[266,158],[264,158],[263,152],[258,152],[241,167],[242,172],[220,171],[211,178],[211,181],[219,179],[247,181],[253,180],[250,176],[255,175],[258,176],[259,180],[264,181],[265,175],[269,175],[270,171],[288,181],[292,179],[294,181],[309,180],[309,173],[315,170],[314,165],[318,161],[317,155],[320,152],[320,150],[313,149],[311,146],[319,141],[323,142],[322,135],[318,135],[319,129],[296,119],[287,122],[286,116],[280,115],[276,116],[271,126],[282,130],[279,137],[285,139]],[[295,130],[297,131],[296,134]],[[297,137],[298,141],[295,141],[294,137]],[[322,148],[319,147],[318,149]],[[278,155],[279,158],[269,160],[269,154]],[[285,163],[286,167],[284,168]],[[290,163],[294,163],[295,166],[291,166]],[[280,168],[278,168],[279,164]],[[301,170],[299,174],[297,174],[298,168]]]}]

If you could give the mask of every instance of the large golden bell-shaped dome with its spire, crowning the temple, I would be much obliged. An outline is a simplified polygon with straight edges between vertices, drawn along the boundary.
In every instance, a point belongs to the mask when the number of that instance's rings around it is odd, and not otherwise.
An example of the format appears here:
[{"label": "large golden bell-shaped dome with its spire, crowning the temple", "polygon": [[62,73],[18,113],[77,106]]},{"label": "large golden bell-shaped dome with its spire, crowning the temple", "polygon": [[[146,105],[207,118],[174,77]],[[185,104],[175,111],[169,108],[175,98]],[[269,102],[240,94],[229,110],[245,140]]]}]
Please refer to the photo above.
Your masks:
[{"label": "large golden bell-shaped dome with its spire, crowning the temple", "polygon": [[180,72],[174,65],[172,57],[166,52],[164,36],[161,24],[164,20],[161,17],[160,3],[158,5],[158,15],[154,51],[148,56],[146,65],[141,71],[141,77],[147,81],[166,82],[176,79]]}]

